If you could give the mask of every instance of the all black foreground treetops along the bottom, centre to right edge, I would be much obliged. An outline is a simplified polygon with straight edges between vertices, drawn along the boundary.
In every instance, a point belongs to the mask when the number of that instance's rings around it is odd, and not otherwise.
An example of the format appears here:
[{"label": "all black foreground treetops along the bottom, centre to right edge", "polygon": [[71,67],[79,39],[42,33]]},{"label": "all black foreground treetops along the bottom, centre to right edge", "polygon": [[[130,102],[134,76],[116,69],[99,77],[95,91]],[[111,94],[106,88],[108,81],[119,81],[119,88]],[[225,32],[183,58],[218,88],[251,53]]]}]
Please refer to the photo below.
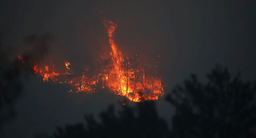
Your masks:
[{"label": "all black foreground treetops along the bottom, centre to right edge", "polygon": [[217,65],[207,75],[207,83],[191,75],[184,86],[177,85],[166,97],[176,107],[171,131],[158,117],[155,103],[146,101],[135,108],[124,105],[118,114],[109,106],[100,113],[101,123],[85,115],[85,125],[58,127],[54,137],[256,137],[256,82],[243,83],[239,75],[231,80],[228,70]]}]

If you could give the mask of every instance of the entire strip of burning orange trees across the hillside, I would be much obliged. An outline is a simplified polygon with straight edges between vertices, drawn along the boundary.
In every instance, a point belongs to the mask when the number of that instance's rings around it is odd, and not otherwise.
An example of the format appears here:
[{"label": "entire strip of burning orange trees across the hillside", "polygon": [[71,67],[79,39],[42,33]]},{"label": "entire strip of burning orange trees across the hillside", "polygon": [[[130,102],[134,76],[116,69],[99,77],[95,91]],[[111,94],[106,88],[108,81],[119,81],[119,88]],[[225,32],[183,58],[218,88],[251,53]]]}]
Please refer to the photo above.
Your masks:
[{"label": "entire strip of burning orange trees across the hillside", "polygon": [[[56,69],[54,65],[31,63],[31,68],[44,82],[67,84],[72,87],[69,92],[94,93],[102,89],[109,89],[116,95],[125,96],[131,101],[157,100],[163,96],[164,88],[157,75],[158,63],[145,64],[140,62],[137,54],[125,57],[113,40],[113,33],[117,27],[110,20],[104,20],[111,47],[109,57],[102,57],[97,67],[84,67],[82,72],[73,70],[68,61],[64,61],[65,69]],[[159,56],[159,55],[158,55]],[[24,63],[23,57],[18,56]]]}]

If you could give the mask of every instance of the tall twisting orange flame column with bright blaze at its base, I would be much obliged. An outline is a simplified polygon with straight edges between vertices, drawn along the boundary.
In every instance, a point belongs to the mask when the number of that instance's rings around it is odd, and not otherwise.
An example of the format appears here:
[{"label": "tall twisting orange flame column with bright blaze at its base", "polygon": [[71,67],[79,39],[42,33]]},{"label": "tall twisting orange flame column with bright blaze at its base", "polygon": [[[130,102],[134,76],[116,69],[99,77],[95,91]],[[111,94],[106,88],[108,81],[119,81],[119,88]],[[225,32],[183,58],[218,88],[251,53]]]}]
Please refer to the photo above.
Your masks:
[{"label": "tall twisting orange flame column with bright blaze at its base", "polygon": [[[112,70],[109,70],[110,74],[114,76],[112,78],[112,81],[109,81],[108,84],[110,90],[116,91],[116,94],[125,96],[129,100],[134,102],[140,102],[141,100],[157,100],[159,96],[162,96],[164,94],[161,80],[158,78],[154,78],[153,76],[152,82],[151,80],[146,81],[143,68],[143,78],[140,79],[141,83],[139,83],[138,73],[142,72],[142,70],[137,69],[134,71],[134,69],[132,69],[129,58],[126,57],[126,59],[124,59],[124,56],[119,51],[117,45],[114,43],[113,33],[117,25],[110,20],[104,20],[103,23],[108,30],[107,32],[109,36],[109,44],[112,50],[110,52],[110,55],[112,57],[114,65],[114,68]],[[107,79],[109,79],[108,77]],[[135,81],[131,81],[131,79]],[[143,81],[145,86],[143,86]],[[149,88],[146,87],[146,84],[147,86],[151,85],[151,91]],[[139,88],[138,92],[136,92],[137,88]]]}]

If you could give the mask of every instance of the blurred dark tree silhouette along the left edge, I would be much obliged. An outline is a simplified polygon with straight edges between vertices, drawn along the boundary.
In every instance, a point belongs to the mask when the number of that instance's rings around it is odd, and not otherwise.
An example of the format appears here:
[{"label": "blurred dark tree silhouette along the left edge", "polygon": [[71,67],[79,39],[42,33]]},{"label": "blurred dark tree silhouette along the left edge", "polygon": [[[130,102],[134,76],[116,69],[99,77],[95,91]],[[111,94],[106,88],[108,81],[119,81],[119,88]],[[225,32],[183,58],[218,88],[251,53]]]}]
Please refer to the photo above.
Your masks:
[{"label": "blurred dark tree silhouette along the left edge", "polygon": [[[1,39],[1,36],[0,36]],[[3,124],[14,117],[12,102],[22,92],[22,84],[19,79],[19,62],[9,62],[7,54],[2,49],[0,42],[0,130]]]}]

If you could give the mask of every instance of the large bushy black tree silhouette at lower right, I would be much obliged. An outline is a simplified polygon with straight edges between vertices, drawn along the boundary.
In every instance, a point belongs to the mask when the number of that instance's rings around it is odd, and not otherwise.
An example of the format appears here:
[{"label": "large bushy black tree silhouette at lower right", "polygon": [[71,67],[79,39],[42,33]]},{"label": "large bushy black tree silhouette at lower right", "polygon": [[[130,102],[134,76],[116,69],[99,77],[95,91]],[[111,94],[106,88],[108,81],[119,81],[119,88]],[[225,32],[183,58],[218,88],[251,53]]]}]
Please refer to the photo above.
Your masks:
[{"label": "large bushy black tree silhouette at lower right", "polygon": [[[243,83],[240,73],[230,81],[219,65],[201,84],[195,75],[177,85],[166,100],[176,106],[173,137],[256,137],[255,82]],[[253,134],[254,133],[254,134]]]}]

